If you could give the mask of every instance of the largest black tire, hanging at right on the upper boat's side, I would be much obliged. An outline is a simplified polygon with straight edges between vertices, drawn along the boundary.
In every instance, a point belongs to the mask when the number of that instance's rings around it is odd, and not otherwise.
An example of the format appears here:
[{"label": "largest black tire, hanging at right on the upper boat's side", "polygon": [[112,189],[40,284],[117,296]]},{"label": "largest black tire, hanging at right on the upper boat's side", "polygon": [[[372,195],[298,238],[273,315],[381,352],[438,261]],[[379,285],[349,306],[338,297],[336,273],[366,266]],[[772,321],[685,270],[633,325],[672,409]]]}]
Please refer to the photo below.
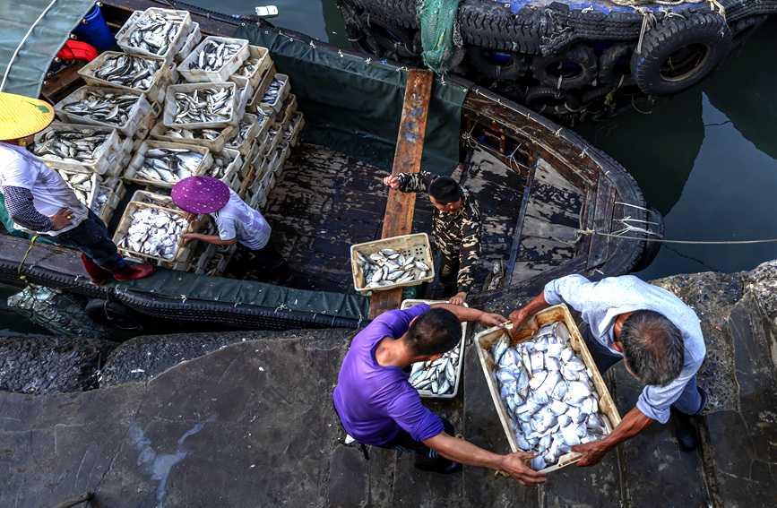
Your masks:
[{"label": "largest black tire, hanging at right on the upper boat's side", "polygon": [[644,93],[675,94],[709,76],[730,47],[731,30],[721,16],[672,16],[645,34],[642,54],[631,59],[631,73]]}]

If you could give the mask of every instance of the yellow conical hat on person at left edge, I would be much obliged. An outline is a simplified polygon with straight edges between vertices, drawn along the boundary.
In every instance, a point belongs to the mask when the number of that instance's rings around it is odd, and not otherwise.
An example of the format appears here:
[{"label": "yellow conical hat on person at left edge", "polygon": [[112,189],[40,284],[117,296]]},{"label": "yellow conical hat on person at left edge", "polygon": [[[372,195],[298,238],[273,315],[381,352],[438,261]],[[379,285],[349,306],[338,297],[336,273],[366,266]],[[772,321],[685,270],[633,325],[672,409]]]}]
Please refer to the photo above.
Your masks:
[{"label": "yellow conical hat on person at left edge", "polygon": [[0,140],[39,133],[54,120],[54,108],[44,100],[0,91]]}]

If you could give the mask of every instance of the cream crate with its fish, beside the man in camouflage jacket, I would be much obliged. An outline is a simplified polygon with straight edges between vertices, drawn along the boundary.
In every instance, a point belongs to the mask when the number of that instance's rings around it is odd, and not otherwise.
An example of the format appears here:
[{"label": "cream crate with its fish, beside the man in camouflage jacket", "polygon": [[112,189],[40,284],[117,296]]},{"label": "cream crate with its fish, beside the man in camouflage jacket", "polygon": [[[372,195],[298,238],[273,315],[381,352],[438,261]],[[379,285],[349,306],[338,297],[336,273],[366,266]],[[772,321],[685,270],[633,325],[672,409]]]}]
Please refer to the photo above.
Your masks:
[{"label": "cream crate with its fish, beside the man in camouflage jacket", "polygon": [[350,246],[353,287],[359,293],[418,286],[435,279],[426,233],[384,238]]}]

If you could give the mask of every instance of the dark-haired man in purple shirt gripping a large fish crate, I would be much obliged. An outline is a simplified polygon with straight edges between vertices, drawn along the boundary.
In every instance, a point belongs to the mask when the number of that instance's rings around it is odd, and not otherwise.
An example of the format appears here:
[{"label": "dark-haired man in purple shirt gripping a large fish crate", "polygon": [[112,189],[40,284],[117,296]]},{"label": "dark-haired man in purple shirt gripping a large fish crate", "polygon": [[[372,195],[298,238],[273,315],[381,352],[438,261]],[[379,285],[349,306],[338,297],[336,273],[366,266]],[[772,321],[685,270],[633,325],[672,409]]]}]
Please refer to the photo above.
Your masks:
[{"label": "dark-haired man in purple shirt gripping a large fish crate", "polygon": [[359,443],[416,453],[416,467],[453,472],[460,464],[505,471],[523,485],[545,482],[526,461],[537,453],[498,455],[453,437],[453,426],[421,404],[410,366],[435,360],[462,339],[461,321],[505,323],[498,314],[451,304],[422,304],[378,316],[351,342],[332,400]]}]

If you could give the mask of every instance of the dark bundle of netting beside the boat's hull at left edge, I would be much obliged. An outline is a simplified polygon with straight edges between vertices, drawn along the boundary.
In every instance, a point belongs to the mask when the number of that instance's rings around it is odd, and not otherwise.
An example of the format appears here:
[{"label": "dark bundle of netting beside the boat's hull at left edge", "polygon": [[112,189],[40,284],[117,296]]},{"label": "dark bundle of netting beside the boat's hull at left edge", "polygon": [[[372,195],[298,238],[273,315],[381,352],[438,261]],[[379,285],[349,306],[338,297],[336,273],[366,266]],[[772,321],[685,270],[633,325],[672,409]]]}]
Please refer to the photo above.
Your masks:
[{"label": "dark bundle of netting beside the boat's hull at left edge", "polygon": [[86,313],[86,298],[59,289],[29,284],[8,297],[8,308],[39,324],[57,337],[108,339],[110,329]]}]

